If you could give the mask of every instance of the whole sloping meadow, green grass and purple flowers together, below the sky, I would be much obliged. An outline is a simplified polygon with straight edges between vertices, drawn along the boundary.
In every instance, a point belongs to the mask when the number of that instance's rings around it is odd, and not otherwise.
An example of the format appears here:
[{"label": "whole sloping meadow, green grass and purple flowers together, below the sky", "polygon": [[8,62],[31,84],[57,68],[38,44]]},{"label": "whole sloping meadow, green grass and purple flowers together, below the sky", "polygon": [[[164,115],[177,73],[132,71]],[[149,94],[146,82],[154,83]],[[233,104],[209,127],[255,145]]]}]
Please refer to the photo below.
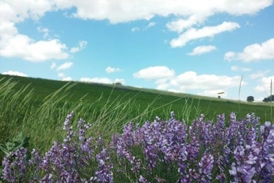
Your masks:
[{"label": "whole sloping meadow, green grass and purple flowers together, below the sky", "polygon": [[272,103],[8,75],[0,91],[0,181],[273,178]]}]

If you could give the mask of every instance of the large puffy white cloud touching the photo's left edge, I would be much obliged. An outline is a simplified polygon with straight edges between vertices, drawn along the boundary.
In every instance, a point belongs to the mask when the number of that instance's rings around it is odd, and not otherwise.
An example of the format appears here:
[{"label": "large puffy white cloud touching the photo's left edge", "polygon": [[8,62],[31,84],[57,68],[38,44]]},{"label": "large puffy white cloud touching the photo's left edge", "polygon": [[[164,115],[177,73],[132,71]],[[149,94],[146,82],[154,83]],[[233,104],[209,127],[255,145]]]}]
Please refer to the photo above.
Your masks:
[{"label": "large puffy white cloud touching the photo's left edge", "polygon": [[0,23],[0,56],[5,58],[18,57],[31,62],[62,60],[69,58],[66,49],[66,45],[58,39],[36,41],[19,34],[14,23]]}]

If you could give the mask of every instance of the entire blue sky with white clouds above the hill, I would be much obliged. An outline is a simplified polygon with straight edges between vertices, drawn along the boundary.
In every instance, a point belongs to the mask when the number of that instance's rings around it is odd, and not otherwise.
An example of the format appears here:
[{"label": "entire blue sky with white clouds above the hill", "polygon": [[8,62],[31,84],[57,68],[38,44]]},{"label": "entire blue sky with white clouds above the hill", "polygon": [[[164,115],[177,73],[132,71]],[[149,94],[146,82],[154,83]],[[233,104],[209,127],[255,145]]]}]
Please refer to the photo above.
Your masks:
[{"label": "entire blue sky with white clouds above the hill", "polygon": [[0,73],[262,101],[274,82],[273,4],[1,0]]}]

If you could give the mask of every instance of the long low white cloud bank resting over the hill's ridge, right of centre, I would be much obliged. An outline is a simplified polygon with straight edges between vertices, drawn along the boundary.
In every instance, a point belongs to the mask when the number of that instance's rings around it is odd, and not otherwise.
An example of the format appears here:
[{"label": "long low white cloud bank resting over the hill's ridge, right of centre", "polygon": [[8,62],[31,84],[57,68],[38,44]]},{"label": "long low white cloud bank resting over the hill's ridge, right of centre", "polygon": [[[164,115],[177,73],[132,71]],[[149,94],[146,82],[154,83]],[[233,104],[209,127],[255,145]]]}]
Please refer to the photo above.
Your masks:
[{"label": "long low white cloud bank resting over the hill's ridge, right of centre", "polygon": [[[163,74],[166,73],[166,74]],[[227,75],[198,75],[195,71],[186,71],[179,75],[166,66],[151,66],[134,73],[135,78],[145,80],[155,80],[156,89],[168,90],[175,93],[196,93],[197,95],[206,95],[216,97],[218,93],[227,97],[229,88],[239,87],[242,77]],[[245,86],[247,82],[242,81]]]}]

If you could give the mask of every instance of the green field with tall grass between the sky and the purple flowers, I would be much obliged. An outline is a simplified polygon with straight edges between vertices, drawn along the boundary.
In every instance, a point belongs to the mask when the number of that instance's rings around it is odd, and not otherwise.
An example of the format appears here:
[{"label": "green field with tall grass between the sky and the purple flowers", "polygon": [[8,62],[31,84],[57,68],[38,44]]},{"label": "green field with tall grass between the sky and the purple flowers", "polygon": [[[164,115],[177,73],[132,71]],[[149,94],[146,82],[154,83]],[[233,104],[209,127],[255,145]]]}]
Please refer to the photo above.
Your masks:
[{"label": "green field with tall grass between the sky and the purple flowers", "polygon": [[[14,137],[29,138],[29,149],[47,151],[56,140],[62,140],[64,117],[74,110],[73,125],[85,119],[92,124],[88,135],[110,139],[122,132],[125,124],[144,124],[156,116],[176,118],[190,124],[200,114],[215,121],[216,114],[226,119],[236,112],[238,119],[254,112],[261,121],[273,122],[272,103],[247,103],[160,90],[60,82],[0,75],[0,144],[14,141]],[[12,148],[12,147],[11,147]],[[16,148],[16,147],[14,147]],[[0,151],[0,160],[5,154]]]}]

